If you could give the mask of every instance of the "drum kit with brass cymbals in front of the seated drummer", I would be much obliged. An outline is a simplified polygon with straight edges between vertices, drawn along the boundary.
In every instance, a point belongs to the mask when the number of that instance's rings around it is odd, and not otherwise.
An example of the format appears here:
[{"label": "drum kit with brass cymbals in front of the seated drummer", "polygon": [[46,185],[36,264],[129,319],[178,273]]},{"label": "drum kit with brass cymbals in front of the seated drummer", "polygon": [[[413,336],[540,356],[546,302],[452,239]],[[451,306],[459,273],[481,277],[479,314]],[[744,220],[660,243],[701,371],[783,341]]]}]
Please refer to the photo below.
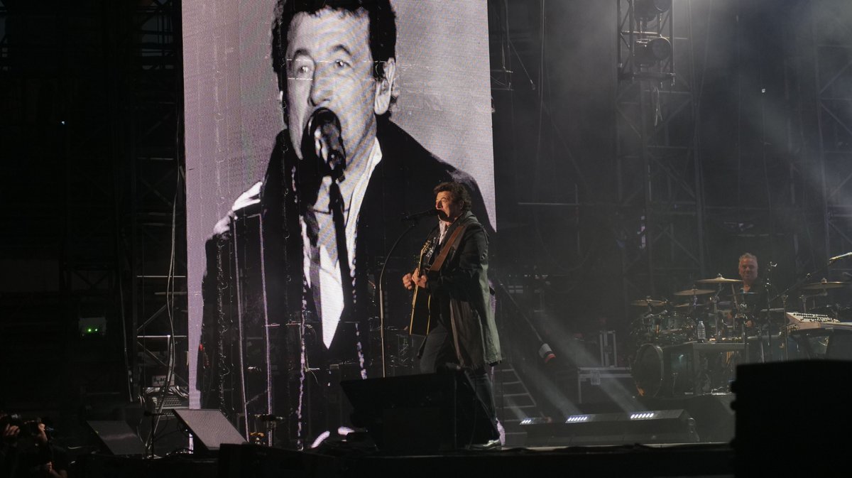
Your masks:
[{"label": "drum kit with brass cymbals in front of the seated drummer", "polygon": [[[671,300],[646,297],[630,302],[644,308],[631,322],[629,337],[639,394],[728,392],[737,361],[786,359],[786,303],[772,308],[765,293],[742,291],[741,279],[721,274],[695,284],[672,293]],[[831,313],[834,320],[843,320],[845,309],[817,308],[815,299],[850,284],[822,279],[797,285],[801,312]],[[786,302],[785,296],[779,298]]]}]

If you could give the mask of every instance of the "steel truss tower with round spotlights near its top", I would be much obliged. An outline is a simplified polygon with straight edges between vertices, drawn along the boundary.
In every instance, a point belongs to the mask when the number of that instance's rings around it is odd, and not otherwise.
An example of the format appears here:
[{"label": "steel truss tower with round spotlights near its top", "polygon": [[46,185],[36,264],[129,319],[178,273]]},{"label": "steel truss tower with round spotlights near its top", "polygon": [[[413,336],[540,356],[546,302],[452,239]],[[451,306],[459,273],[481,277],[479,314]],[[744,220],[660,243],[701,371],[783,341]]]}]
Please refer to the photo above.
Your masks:
[{"label": "steel truss tower with round spotlights near its top", "polygon": [[[690,36],[675,36],[674,7],[642,20],[636,3],[618,0],[617,10],[616,156],[625,302],[676,291],[705,271]],[[636,42],[655,37],[668,38],[673,53],[643,65],[636,60]]]}]

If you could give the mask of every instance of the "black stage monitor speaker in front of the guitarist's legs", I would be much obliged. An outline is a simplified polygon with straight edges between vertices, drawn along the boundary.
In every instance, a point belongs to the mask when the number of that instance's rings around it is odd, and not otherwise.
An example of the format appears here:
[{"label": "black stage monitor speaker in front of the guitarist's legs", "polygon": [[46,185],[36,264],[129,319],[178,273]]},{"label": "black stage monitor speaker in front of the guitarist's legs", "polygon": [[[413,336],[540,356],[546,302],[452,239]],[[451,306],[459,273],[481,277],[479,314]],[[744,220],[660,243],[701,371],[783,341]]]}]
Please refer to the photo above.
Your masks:
[{"label": "black stage monitor speaker in front of the guitarist's legs", "polygon": [[498,436],[463,371],[347,380],[352,423],[386,452],[459,450]]}]

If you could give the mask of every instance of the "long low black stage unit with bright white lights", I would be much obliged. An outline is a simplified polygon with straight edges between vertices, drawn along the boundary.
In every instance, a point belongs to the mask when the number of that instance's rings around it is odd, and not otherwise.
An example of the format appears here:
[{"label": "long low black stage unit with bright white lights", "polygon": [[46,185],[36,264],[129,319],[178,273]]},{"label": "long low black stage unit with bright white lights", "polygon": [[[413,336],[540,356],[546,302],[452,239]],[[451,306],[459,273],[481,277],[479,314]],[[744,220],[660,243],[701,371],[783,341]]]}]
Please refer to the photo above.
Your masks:
[{"label": "long low black stage unit with bright white lights", "polygon": [[695,420],[686,410],[650,410],[571,415],[556,423],[547,418],[521,421],[527,446],[633,445],[695,443]]}]

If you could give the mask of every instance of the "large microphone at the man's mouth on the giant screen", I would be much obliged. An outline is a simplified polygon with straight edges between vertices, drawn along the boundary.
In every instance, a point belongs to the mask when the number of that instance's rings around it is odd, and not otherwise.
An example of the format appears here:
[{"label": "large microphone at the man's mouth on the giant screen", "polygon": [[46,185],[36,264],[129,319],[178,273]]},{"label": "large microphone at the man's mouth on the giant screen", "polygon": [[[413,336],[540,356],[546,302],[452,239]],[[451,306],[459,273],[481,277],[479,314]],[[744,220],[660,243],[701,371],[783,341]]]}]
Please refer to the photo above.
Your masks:
[{"label": "large microphone at the man's mouth on the giant screen", "polygon": [[343,180],[346,150],[343,148],[340,119],[330,109],[317,108],[308,118],[302,135],[302,158],[316,158],[320,177]]}]

